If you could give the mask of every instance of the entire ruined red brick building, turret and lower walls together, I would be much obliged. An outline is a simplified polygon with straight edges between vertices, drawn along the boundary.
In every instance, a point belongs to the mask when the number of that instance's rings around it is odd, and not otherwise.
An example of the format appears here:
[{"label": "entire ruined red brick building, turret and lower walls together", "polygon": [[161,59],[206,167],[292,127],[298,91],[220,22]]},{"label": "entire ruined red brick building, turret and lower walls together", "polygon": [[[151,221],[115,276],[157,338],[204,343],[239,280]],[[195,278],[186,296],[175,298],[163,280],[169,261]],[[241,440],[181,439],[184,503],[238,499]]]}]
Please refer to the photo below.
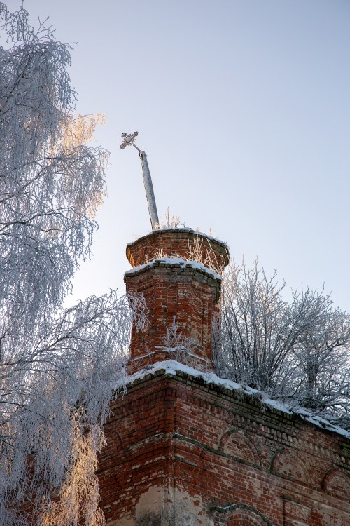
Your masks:
[{"label": "entire ruined red brick building, turret and lower walls together", "polygon": [[[150,325],[132,332],[134,374],[105,428],[107,524],[349,526],[349,433],[211,372],[225,245],[190,229],[153,231],[127,245],[127,258],[127,291],[144,294]],[[174,316],[183,339],[165,351]],[[191,342],[187,365],[172,359],[181,341]]]}]

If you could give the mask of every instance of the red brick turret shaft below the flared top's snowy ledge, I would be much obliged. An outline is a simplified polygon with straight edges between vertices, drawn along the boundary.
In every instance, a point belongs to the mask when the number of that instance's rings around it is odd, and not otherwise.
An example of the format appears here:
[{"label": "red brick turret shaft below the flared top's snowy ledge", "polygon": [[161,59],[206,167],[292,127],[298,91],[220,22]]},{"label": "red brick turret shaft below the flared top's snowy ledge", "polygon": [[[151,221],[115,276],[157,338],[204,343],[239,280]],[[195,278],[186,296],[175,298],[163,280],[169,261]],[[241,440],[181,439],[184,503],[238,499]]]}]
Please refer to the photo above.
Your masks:
[{"label": "red brick turret shaft below the flared top's snowy ledge", "polygon": [[191,354],[202,362],[202,368],[212,368],[211,323],[220,294],[219,278],[190,264],[181,267],[160,260],[152,267],[125,274],[125,283],[127,292],[144,295],[148,308],[148,330],[132,330],[130,354],[134,370],[147,365],[145,360],[155,363],[176,359],[159,349],[165,344],[167,328],[172,326],[174,316],[178,332],[194,342]]}]

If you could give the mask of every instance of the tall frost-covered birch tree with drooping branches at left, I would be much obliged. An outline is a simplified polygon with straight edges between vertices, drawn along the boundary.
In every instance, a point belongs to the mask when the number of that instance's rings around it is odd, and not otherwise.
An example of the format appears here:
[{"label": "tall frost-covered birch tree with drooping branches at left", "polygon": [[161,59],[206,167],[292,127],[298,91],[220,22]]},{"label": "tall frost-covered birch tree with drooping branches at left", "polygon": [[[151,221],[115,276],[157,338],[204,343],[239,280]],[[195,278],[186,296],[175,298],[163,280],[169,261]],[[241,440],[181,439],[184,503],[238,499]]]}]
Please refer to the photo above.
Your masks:
[{"label": "tall frost-covered birch tree with drooping branches at left", "polygon": [[62,301],[90,254],[107,152],[70,46],[0,3],[0,525],[102,525],[97,454],[141,299]]}]

